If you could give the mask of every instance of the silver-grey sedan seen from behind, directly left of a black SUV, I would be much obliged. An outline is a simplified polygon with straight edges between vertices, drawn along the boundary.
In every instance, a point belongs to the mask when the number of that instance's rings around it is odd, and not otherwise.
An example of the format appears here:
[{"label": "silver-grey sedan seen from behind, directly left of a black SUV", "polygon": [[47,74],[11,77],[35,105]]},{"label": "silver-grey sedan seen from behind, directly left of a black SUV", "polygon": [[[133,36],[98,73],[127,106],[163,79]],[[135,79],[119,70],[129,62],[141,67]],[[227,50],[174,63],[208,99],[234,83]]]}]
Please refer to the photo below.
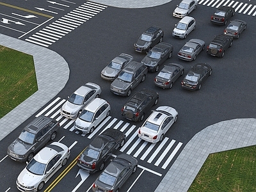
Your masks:
[{"label": "silver-grey sedan seen from behind, directly left of a black SUV", "polygon": [[186,42],[186,44],[178,52],[180,60],[195,61],[196,56],[205,49],[205,42],[203,40],[193,38]]}]

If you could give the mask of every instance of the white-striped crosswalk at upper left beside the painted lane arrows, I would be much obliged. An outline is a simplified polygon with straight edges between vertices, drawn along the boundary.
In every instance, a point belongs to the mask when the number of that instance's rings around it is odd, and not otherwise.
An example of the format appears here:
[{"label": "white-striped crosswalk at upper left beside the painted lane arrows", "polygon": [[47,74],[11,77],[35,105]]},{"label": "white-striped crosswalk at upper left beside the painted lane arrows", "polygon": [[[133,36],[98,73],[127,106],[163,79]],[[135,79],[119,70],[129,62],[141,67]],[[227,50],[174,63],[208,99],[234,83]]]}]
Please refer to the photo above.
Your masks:
[{"label": "white-striped crosswalk at upper left beside the painted lane arrows", "polygon": [[25,40],[33,44],[49,47],[49,45],[52,45],[107,7],[103,4],[86,1],[86,3],[67,13],[60,19],[55,20]]}]

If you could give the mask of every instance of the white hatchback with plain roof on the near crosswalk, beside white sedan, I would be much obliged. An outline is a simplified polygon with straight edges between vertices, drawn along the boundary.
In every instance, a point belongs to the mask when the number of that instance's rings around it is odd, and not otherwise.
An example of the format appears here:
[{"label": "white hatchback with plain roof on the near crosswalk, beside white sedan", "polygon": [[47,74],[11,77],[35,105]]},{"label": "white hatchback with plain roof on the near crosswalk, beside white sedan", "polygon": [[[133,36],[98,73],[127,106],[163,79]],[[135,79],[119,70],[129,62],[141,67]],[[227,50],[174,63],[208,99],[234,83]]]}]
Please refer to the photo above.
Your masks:
[{"label": "white hatchback with plain roof on the near crosswalk, beside white sedan", "polygon": [[86,133],[92,133],[97,125],[110,115],[109,103],[100,98],[95,98],[86,106],[74,122],[74,129]]}]

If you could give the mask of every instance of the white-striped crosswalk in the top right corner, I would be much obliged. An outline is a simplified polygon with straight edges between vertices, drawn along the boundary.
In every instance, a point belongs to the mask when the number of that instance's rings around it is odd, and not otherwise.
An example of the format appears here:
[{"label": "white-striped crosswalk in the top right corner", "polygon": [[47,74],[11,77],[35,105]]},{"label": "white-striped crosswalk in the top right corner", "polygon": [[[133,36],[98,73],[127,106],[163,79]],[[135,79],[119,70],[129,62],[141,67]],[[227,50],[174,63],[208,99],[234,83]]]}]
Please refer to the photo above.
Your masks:
[{"label": "white-striped crosswalk in the top right corner", "polygon": [[[249,1],[250,2],[250,1]],[[237,13],[256,15],[256,5],[232,0],[198,0],[198,4],[219,8],[220,6],[231,6]]]}]

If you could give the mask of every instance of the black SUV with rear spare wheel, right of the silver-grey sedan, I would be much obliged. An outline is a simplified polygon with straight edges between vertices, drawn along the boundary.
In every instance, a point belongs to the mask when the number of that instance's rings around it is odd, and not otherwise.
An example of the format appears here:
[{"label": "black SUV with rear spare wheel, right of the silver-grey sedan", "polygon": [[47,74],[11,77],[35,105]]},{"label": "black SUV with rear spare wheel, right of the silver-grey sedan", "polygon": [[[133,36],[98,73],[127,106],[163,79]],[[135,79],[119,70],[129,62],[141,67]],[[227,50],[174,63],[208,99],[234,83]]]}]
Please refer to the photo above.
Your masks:
[{"label": "black SUV with rear spare wheel, right of the silver-grey sedan", "polygon": [[212,56],[223,58],[225,51],[233,44],[232,36],[216,35],[212,42],[207,46],[206,52]]}]

